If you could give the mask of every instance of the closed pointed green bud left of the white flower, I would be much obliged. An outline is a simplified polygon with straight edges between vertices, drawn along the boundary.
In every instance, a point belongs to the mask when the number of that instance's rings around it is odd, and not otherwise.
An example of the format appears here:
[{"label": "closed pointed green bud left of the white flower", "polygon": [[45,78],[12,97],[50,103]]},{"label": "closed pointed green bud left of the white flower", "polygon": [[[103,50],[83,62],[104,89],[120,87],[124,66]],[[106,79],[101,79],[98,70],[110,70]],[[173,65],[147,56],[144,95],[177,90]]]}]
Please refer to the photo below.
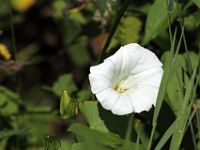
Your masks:
[{"label": "closed pointed green bud left of the white flower", "polygon": [[60,115],[63,119],[70,119],[78,114],[78,104],[67,91],[63,91],[60,98]]}]

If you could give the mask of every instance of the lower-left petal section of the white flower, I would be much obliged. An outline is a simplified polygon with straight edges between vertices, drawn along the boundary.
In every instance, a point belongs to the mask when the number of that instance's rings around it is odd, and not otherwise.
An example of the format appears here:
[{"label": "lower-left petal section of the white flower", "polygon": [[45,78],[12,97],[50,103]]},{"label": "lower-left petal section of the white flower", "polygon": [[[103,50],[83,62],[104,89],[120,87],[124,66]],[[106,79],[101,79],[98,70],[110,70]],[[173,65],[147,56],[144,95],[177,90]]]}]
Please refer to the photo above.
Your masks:
[{"label": "lower-left petal section of the white flower", "polygon": [[96,94],[98,101],[107,110],[110,110],[113,107],[119,96],[119,93],[112,88],[105,89]]}]

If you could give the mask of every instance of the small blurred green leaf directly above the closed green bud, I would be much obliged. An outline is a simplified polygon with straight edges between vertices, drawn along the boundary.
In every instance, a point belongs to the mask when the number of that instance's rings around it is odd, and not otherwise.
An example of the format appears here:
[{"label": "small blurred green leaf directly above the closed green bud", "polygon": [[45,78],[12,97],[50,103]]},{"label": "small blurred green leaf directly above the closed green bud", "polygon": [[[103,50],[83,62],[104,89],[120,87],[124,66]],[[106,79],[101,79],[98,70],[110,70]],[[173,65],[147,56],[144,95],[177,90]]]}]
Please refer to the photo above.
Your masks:
[{"label": "small blurred green leaf directly above the closed green bud", "polygon": [[52,91],[58,96],[60,96],[64,90],[66,90],[69,94],[72,94],[77,90],[71,74],[61,75],[52,86]]}]

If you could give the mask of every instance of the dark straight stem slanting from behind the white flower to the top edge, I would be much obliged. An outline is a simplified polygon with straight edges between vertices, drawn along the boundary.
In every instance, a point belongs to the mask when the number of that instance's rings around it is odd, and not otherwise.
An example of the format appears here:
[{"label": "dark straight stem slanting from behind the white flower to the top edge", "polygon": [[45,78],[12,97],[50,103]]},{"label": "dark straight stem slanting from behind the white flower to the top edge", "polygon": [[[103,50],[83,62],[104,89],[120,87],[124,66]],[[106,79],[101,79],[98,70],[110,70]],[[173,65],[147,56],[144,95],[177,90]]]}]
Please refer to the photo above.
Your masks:
[{"label": "dark straight stem slanting from behind the white flower to the top edge", "polygon": [[97,64],[102,61],[103,55],[106,52],[108,46],[110,45],[110,42],[111,42],[112,37],[113,37],[113,35],[114,35],[114,33],[115,33],[116,29],[117,29],[117,26],[119,25],[123,14],[125,13],[126,9],[128,8],[130,1],[131,0],[124,0],[120,10],[118,11],[117,16],[115,17],[115,20],[114,20],[114,22],[113,22],[113,24],[112,24],[112,26],[110,28],[108,38],[107,38],[107,40],[106,40],[106,42],[105,42],[105,44],[103,46],[103,49],[102,49],[102,51],[101,51],[101,53],[99,55],[99,58],[97,60]]}]

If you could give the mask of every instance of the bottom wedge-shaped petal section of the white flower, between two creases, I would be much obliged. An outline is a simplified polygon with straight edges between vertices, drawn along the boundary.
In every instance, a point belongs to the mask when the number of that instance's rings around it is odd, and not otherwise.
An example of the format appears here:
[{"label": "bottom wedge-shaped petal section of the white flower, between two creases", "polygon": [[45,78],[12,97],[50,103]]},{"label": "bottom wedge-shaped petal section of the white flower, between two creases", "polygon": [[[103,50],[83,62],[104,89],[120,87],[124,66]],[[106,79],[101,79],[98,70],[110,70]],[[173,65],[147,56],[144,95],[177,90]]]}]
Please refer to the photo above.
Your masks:
[{"label": "bottom wedge-shaped petal section of the white flower, between two creases", "polygon": [[129,96],[126,94],[120,95],[120,97],[117,99],[117,102],[112,107],[111,111],[113,114],[116,115],[126,115],[132,113],[133,107]]}]

